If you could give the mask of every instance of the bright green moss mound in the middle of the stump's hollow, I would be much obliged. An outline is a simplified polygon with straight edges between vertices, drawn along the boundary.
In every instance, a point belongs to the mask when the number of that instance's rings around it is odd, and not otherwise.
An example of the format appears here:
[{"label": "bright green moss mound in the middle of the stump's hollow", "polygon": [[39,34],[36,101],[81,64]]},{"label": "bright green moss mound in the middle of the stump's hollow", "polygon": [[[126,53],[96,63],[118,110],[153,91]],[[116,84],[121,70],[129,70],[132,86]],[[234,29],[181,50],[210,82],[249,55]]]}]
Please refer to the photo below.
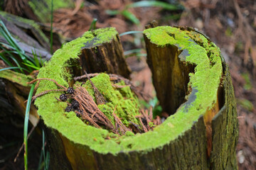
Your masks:
[{"label": "bright green moss mound in the middle of the stump's hollow", "polygon": [[[107,103],[99,105],[98,108],[100,108],[100,111],[102,111],[102,113],[107,115],[107,118],[112,120],[113,125],[114,118],[112,116],[112,113],[114,111],[114,108],[116,108],[114,113],[117,114],[119,118],[121,118],[124,125],[128,126],[129,121],[139,124],[139,121],[134,117],[135,115],[140,115],[139,101],[137,97],[132,94],[129,86],[120,89],[114,89],[112,87],[110,77],[107,74],[99,74],[97,77],[92,78],[92,83],[95,84],[97,89],[107,101]],[[124,84],[124,82],[122,82],[121,84]],[[86,84],[84,84],[83,86],[85,87],[85,89],[87,89],[90,96],[92,96],[96,103],[95,93],[92,89],[90,81],[87,81]],[[120,91],[122,91],[122,93],[120,93]]]}]

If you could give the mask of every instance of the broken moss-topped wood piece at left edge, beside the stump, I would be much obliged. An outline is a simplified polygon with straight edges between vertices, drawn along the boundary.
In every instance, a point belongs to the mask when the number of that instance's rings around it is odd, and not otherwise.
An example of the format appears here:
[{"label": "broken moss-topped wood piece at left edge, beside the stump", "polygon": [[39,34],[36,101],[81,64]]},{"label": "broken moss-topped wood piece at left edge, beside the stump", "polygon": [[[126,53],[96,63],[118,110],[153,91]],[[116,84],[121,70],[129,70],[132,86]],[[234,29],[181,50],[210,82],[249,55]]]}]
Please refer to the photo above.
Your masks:
[{"label": "broken moss-topped wood piece at left edge, beside the stump", "polygon": [[[1,67],[0,67],[1,69]],[[19,114],[25,116],[26,103],[30,86],[27,82],[33,80],[31,76],[4,70],[0,72],[0,115]],[[37,109],[32,104],[29,120],[33,126],[36,126],[39,120]]]}]

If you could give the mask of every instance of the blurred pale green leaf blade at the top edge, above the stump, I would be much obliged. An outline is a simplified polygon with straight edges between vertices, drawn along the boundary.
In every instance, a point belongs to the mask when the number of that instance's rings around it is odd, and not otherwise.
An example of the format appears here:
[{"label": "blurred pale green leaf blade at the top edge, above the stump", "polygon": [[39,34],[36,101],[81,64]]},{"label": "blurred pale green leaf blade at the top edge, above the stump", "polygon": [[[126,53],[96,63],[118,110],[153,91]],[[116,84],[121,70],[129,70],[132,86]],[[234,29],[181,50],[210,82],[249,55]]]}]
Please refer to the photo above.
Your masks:
[{"label": "blurred pale green leaf blade at the top edge, above the stump", "polygon": [[171,11],[180,9],[180,7],[177,5],[168,4],[168,3],[162,2],[162,1],[137,1],[132,4],[129,4],[127,6],[127,8],[154,7],[154,6],[161,7],[161,8],[167,9],[167,10],[171,10]]}]

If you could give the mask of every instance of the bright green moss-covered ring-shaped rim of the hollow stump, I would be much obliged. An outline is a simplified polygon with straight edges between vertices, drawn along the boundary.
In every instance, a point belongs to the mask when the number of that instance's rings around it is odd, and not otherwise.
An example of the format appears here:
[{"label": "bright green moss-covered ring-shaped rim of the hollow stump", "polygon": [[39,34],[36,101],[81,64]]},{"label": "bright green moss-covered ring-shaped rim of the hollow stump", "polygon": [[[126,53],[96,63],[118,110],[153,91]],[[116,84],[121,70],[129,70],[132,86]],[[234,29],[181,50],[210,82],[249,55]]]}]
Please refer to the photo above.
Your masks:
[{"label": "bright green moss-covered ring-shaped rim of the hollow stump", "polygon": [[[71,75],[65,73],[65,67],[69,60],[79,60],[78,55],[80,55],[80,49],[84,47],[85,42],[92,41],[97,35],[97,42],[95,43],[100,44],[112,40],[116,34],[117,31],[114,28],[102,28],[95,30],[94,33],[88,31],[81,38],[68,42],[62,49],[54,53],[45,67],[41,68],[38,78],[55,79],[59,84],[68,86],[65,79],[71,77]],[[105,140],[107,136],[112,137],[112,133],[85,125],[82,120],[76,117],[75,113],[64,114],[63,108],[66,104],[58,103],[55,100],[55,96],[60,95],[60,93],[46,94],[36,100],[38,114],[42,116],[44,123],[48,127],[58,130],[69,140],[105,154],[117,154],[132,150],[149,152],[153,148],[163,147],[166,143],[175,140],[178,135],[182,135],[183,132],[190,129],[193,123],[216,102],[215,98],[217,98],[222,74],[220,50],[206,37],[193,31],[161,26],[144,30],[144,34],[159,47],[176,45],[180,50],[188,50],[185,57],[186,62],[196,65],[195,73],[189,74],[193,90],[188,98],[192,95],[196,96],[193,101],[188,102],[188,100],[183,103],[174,115],[167,118],[154,131],[137,135],[125,135],[119,137],[119,142],[116,142],[116,139]],[[175,38],[171,37],[170,34],[175,34]],[[37,94],[56,88],[51,81],[41,81]],[[211,89],[211,91],[208,91],[208,89]]]}]

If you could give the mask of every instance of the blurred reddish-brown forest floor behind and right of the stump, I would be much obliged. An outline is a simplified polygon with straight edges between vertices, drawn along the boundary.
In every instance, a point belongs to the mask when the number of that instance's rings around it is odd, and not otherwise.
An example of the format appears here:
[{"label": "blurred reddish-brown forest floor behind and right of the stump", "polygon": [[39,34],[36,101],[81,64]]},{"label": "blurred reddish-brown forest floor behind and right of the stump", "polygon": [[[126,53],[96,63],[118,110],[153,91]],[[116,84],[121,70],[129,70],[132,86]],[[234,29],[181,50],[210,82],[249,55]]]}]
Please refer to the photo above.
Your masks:
[{"label": "blurred reddish-brown forest floor behind and right of the stump", "polygon": [[[56,33],[64,35],[68,40],[78,38],[87,31],[93,18],[97,18],[97,28],[112,26],[117,28],[119,33],[144,30],[144,26],[153,20],[158,21],[160,26],[190,26],[201,30],[220,47],[230,67],[240,125],[237,147],[239,169],[256,169],[256,2],[183,0],[179,3],[184,8],[176,11],[166,11],[159,7],[129,8],[139,19],[138,24],[132,23],[121,14],[110,16],[105,13],[106,10],[121,11],[130,3],[132,0],[91,1],[89,5],[85,4],[81,8],[82,1],[78,0],[75,8],[63,8],[53,13],[53,27]],[[124,35],[121,40],[124,51],[141,49],[139,53],[146,53],[142,35]],[[55,46],[55,49],[58,47]],[[134,71],[134,83],[141,84],[145,92],[151,92],[154,87],[151,84],[151,72],[145,61],[144,56],[127,57],[127,62]],[[35,146],[40,145],[38,143],[40,141],[35,142]],[[34,153],[38,155],[40,149],[36,149]],[[33,158],[35,164],[39,156]],[[13,159],[8,162],[8,166],[0,166],[0,169],[23,169],[22,159],[17,163],[14,163]]]}]

